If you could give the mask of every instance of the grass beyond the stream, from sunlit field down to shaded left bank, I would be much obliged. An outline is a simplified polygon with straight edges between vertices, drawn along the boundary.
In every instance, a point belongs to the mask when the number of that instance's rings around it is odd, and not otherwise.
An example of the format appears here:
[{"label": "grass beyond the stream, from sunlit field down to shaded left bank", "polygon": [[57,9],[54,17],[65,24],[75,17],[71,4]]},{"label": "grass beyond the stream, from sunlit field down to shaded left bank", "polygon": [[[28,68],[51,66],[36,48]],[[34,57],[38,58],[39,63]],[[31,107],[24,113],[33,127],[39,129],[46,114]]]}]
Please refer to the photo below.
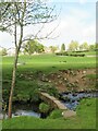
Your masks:
[{"label": "grass beyond the stream, from sunlit field down to shaded left bank", "polygon": [[[3,98],[5,102],[8,102],[9,91],[11,87],[13,60],[13,57],[2,58],[2,88]],[[47,75],[59,70],[86,69],[96,67],[96,58],[59,57],[56,55],[20,56],[19,62],[25,64],[17,67],[14,100],[25,100],[26,98],[28,99],[33,97],[30,93],[36,92],[35,87],[38,88],[40,86],[39,76],[37,75],[38,71],[42,71],[42,73]],[[21,74],[24,76],[20,78]],[[28,80],[30,75],[32,80]],[[45,83],[44,86],[46,86]]]}]

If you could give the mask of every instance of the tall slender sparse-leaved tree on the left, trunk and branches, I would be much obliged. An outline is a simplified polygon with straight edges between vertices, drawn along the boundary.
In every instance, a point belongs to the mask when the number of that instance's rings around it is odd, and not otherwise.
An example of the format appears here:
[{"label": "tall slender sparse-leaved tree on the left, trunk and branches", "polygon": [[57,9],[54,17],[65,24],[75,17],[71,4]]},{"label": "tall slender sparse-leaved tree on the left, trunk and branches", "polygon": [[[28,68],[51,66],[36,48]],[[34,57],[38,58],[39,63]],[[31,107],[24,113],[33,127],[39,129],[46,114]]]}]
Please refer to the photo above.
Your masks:
[{"label": "tall slender sparse-leaved tree on the left, trunk and branches", "polygon": [[[0,31],[7,31],[14,36],[15,44],[15,56],[14,56],[14,66],[13,66],[13,74],[12,74],[12,84],[11,92],[9,97],[9,109],[8,116],[12,117],[12,98],[13,98],[13,90],[15,86],[16,80],[16,68],[17,68],[17,59],[19,52],[21,50],[22,44],[25,40],[29,39],[42,39],[47,38],[51,35],[53,31],[51,31],[46,36],[38,36],[38,34],[44,28],[44,24],[50,23],[57,20],[57,15],[53,14],[54,7],[50,8],[41,0],[33,0],[30,2],[5,2],[0,3]],[[39,31],[36,34],[30,34],[27,37],[24,37],[24,27],[27,25],[36,25],[42,24]],[[20,36],[19,36],[20,34]]]}]

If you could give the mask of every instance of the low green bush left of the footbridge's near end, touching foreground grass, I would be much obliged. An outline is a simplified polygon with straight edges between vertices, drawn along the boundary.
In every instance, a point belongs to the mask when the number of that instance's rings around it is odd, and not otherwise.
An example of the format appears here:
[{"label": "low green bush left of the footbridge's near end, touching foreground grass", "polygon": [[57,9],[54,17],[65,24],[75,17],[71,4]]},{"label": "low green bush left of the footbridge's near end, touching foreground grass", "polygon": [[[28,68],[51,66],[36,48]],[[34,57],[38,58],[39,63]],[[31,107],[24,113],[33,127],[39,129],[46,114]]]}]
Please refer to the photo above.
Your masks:
[{"label": "low green bush left of the footbridge's near end, touching foreground grass", "polygon": [[49,119],[62,118],[62,110],[60,109],[53,110],[48,118]]}]

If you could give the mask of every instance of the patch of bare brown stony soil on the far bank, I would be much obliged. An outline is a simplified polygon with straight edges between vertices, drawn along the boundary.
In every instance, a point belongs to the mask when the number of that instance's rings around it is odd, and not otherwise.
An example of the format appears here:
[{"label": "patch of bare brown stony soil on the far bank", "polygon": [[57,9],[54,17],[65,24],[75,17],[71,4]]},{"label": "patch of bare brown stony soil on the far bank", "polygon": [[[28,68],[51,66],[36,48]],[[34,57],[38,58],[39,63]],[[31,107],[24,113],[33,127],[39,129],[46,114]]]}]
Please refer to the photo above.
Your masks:
[{"label": "patch of bare brown stony soil on the far bank", "polygon": [[42,82],[49,82],[59,90],[59,92],[83,92],[95,91],[96,79],[87,78],[88,74],[96,74],[96,69],[84,70],[59,70],[42,78]]}]

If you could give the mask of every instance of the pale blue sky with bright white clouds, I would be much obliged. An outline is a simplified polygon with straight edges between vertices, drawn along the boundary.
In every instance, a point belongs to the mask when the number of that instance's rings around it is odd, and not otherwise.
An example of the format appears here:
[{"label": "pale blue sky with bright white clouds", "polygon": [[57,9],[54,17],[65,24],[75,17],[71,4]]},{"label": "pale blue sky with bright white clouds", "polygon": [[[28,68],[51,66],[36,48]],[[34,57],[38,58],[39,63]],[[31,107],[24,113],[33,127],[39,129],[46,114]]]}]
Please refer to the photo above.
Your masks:
[{"label": "pale blue sky with bright white clouds", "polygon": [[[57,13],[60,12],[60,15],[57,21],[45,26],[42,35],[58,26],[52,34],[54,39],[41,40],[45,46],[60,46],[62,43],[68,46],[71,40],[81,44],[96,41],[96,0],[50,0],[50,4],[56,4]],[[26,27],[24,34],[30,34],[36,29],[32,26]],[[12,36],[0,32],[0,46],[14,47]]]}]

